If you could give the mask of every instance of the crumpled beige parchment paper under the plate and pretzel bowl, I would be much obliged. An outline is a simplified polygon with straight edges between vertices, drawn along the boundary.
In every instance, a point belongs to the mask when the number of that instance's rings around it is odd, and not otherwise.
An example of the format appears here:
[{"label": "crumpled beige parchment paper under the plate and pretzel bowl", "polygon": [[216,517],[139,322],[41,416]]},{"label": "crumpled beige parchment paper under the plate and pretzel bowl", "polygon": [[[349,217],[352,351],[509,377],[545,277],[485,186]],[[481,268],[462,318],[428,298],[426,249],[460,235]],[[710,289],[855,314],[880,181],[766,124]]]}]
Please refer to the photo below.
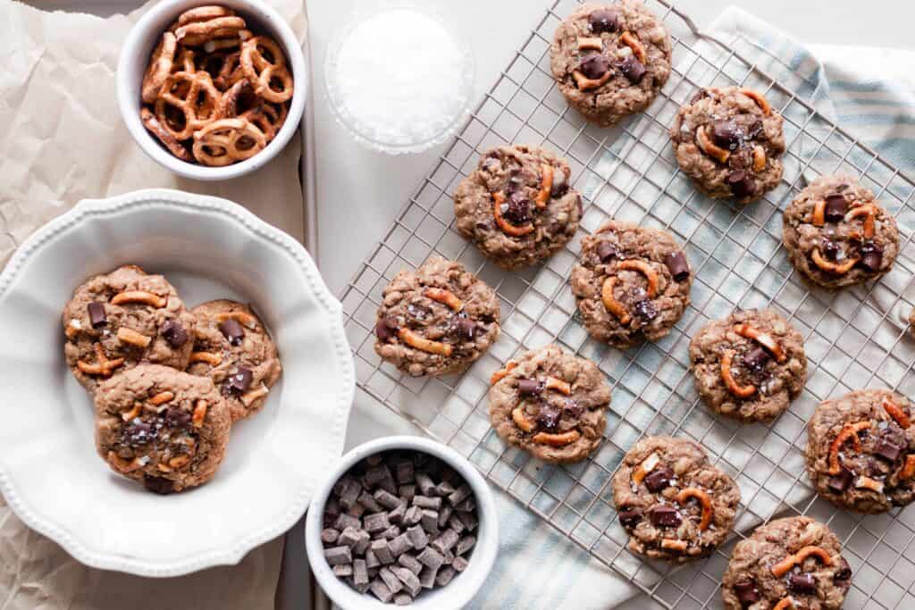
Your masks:
[{"label": "crumpled beige parchment paper under the plate and pretzel bowl", "polygon": [[[301,0],[270,1],[304,40]],[[173,176],[134,144],[114,76],[124,37],[147,6],[100,18],[0,0],[0,267],[29,233],[81,198],[145,187],[229,198],[301,241],[298,138],[253,175],[217,184]],[[277,539],[237,566],[144,579],[81,565],[0,500],[0,610],[266,610],[274,607],[282,547]]]}]

